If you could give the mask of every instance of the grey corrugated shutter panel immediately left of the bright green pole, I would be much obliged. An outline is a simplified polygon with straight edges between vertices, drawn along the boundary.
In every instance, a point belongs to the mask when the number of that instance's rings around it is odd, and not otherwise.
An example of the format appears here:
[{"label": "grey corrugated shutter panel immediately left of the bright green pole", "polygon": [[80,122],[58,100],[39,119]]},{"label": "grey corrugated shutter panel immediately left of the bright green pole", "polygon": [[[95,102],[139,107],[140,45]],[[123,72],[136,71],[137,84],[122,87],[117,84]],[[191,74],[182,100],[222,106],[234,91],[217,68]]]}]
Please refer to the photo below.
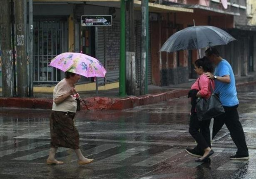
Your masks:
[{"label": "grey corrugated shutter panel immediately left of the bright green pole", "polygon": [[120,58],[120,22],[113,21],[113,25],[105,28],[105,62],[106,81],[116,82],[119,80]]}]

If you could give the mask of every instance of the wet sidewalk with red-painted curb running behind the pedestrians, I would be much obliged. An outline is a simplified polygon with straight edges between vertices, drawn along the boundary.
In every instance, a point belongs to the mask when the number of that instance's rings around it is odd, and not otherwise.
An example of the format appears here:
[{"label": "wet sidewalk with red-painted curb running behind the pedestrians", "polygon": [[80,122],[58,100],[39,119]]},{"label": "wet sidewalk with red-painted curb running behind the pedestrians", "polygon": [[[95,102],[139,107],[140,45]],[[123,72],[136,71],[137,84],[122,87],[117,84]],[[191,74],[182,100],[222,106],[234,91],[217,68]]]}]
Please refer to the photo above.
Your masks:
[{"label": "wet sidewalk with red-painted curb running behind the pedestrians", "polygon": [[[83,110],[122,110],[159,103],[186,96],[194,81],[195,79],[188,83],[163,87],[149,85],[149,94],[143,96],[119,97],[118,89],[99,91],[98,96],[96,96],[95,91],[79,92],[81,98],[86,102],[86,105],[81,105],[81,107]],[[237,87],[256,84],[256,76],[239,77],[236,78],[236,82]],[[136,93],[138,94],[139,91],[137,90]],[[33,98],[1,97],[0,107],[52,109],[52,96],[52,93],[34,93]]]}]

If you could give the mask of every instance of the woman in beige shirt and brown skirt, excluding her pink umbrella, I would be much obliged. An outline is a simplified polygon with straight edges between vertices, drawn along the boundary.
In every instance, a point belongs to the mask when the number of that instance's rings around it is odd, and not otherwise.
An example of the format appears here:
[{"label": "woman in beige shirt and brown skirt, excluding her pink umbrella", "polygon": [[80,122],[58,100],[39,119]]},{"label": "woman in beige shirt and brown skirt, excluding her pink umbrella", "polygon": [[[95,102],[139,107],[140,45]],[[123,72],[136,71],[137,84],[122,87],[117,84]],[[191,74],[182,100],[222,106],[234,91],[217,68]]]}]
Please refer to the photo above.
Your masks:
[{"label": "woman in beige shirt and brown skirt, excluding her pink umbrella", "polygon": [[93,159],[83,156],[79,147],[79,133],[74,124],[77,110],[76,98],[79,97],[74,84],[80,80],[81,76],[71,72],[65,72],[65,75],[66,77],[55,86],[53,92],[54,102],[50,118],[51,149],[47,164],[63,164],[55,159],[59,147],[73,149],[78,163],[88,164]]}]

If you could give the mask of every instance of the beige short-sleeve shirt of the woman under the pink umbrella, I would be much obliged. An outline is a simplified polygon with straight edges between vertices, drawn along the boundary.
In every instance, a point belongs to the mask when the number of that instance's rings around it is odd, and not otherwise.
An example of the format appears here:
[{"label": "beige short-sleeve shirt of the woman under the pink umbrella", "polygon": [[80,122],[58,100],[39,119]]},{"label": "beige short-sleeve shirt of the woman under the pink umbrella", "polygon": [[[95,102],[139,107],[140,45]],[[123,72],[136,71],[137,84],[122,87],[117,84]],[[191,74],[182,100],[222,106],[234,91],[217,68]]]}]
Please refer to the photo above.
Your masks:
[{"label": "beige short-sleeve shirt of the woman under the pink umbrella", "polygon": [[[56,99],[62,95],[67,94],[72,87],[67,83],[64,78],[61,80],[53,90],[53,99]],[[76,98],[73,95],[70,95],[62,103],[56,104],[53,100],[53,111],[63,111],[63,112],[76,112],[77,102]]]}]

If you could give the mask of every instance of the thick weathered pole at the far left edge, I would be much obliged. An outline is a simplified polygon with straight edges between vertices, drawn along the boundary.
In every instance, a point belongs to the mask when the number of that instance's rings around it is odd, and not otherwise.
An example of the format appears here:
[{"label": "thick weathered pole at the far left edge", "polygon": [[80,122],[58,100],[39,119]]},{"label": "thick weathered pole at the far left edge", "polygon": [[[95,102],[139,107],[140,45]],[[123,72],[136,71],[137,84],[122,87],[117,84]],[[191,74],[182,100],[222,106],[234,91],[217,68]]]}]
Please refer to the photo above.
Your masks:
[{"label": "thick weathered pole at the far left edge", "polygon": [[13,68],[11,49],[10,2],[2,0],[0,6],[0,42],[2,57],[3,97],[13,97]]}]

